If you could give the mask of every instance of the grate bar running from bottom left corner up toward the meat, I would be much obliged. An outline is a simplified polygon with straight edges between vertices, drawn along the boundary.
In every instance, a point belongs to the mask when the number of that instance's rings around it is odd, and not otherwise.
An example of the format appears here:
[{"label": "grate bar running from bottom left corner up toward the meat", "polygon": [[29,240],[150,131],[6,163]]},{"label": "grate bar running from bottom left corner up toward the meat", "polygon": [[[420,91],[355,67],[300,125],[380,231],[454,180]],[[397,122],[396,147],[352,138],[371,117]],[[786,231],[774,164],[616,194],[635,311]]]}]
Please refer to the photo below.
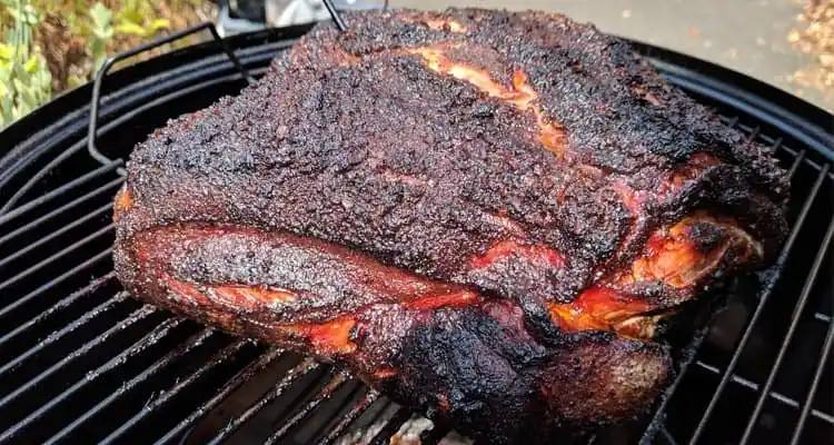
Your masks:
[{"label": "grate bar running from bottom left corner up toward the meat", "polygon": [[151,332],[146,334],[142,338],[136,340],[127,349],[117,354],[116,356],[107,360],[103,365],[99,366],[95,370],[87,373],[83,378],[77,380],[69,388],[64,389],[57,396],[50,398],[49,402],[41,405],[38,409],[36,409],[34,412],[32,412],[31,414],[29,414],[21,421],[18,421],[18,423],[16,423],[9,429],[7,429],[4,434],[8,435],[9,437],[13,437],[20,431],[24,429],[27,426],[31,425],[33,422],[37,422],[39,418],[41,418],[43,414],[53,409],[61,402],[66,400],[68,397],[76,394],[76,392],[82,388],[85,385],[96,382],[96,379],[101,377],[101,375],[103,374],[107,374],[113,369],[118,369],[120,366],[125,366],[128,363],[127,359],[130,356],[138,354],[141,350],[159,343],[159,340],[167,337],[171,333],[171,330],[177,328],[177,326],[179,326],[183,322],[185,319],[182,318],[168,318],[165,322],[160,323],[159,325],[157,325],[157,327],[155,327]]}]

